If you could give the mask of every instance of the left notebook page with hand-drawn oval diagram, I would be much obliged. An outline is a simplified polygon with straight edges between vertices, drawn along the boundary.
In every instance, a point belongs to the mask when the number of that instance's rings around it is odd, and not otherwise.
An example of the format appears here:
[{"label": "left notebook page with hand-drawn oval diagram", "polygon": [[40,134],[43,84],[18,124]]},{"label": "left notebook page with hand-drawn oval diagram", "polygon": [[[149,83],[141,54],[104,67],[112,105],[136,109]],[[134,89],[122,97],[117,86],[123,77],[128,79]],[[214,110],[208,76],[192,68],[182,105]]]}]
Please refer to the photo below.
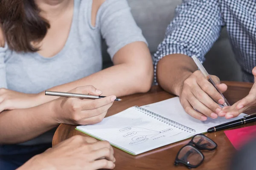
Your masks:
[{"label": "left notebook page with hand-drawn oval diagram", "polygon": [[154,119],[135,108],[104,118],[95,125],[78,126],[79,130],[134,154],[171,144],[191,136]]}]

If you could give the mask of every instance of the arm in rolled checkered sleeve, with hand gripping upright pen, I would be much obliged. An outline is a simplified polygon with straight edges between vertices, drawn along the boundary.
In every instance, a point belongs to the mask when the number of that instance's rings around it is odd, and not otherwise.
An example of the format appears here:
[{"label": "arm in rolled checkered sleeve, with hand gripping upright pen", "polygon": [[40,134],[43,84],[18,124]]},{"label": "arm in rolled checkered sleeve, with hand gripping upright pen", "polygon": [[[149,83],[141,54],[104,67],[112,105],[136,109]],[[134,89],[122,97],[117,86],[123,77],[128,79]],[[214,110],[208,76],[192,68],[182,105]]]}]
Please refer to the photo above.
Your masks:
[{"label": "arm in rolled checkered sleeve, with hand gripping upright pen", "polygon": [[[216,102],[224,104],[224,99],[190,57],[196,55],[203,62],[223,25],[217,1],[185,0],[177,7],[174,21],[154,54],[157,82],[164,90],[180,96],[186,113],[196,119],[217,118],[221,107]],[[212,79],[219,83],[218,77]],[[224,92],[227,85],[218,84],[218,88]]]}]

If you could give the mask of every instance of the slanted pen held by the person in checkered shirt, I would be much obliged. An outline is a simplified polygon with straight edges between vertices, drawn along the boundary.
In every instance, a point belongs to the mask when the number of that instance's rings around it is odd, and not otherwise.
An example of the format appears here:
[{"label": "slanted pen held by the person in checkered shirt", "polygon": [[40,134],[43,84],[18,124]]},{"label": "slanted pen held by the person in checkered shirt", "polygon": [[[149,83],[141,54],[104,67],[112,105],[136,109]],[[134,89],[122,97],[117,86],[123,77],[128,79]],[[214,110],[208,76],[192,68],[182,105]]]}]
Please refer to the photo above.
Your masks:
[{"label": "slanted pen held by the person in checkered shirt", "polygon": [[216,88],[216,90],[221,94],[221,96],[224,98],[225,102],[224,102],[224,106],[230,106],[230,104],[227,102],[227,99],[223,96],[223,94],[221,93],[221,91],[218,89],[218,87],[215,85],[214,81],[211,79],[210,75],[207,73],[206,69],[204,68],[204,66],[201,64],[201,62],[199,61],[199,59],[193,55],[192,59],[194,60],[195,64],[198,66],[199,70],[202,72],[202,74],[204,75],[204,77]]}]

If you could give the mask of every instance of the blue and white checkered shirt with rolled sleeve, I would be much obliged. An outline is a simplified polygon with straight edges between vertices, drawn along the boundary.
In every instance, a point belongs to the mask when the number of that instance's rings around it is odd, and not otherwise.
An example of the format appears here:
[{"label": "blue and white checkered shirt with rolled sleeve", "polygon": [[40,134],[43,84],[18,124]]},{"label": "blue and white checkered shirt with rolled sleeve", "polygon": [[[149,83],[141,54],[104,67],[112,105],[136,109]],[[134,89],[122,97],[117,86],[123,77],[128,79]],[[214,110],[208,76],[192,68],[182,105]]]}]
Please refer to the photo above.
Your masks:
[{"label": "blue and white checkered shirt with rolled sleeve", "polygon": [[153,56],[155,83],[157,63],[166,55],[195,54],[204,62],[204,55],[223,26],[227,27],[243,80],[254,82],[251,71],[256,66],[256,0],[183,0]]}]

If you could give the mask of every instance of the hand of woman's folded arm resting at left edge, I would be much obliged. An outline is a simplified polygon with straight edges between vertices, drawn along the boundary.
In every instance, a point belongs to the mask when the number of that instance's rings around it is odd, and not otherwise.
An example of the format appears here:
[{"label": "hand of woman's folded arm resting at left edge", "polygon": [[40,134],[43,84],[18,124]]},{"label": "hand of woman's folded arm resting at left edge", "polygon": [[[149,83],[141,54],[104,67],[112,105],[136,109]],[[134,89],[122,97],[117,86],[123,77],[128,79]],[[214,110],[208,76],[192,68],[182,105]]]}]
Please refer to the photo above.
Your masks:
[{"label": "hand of woman's folded arm resting at left edge", "polygon": [[25,94],[0,88],[0,113],[4,110],[32,108],[40,104],[38,94]]}]

